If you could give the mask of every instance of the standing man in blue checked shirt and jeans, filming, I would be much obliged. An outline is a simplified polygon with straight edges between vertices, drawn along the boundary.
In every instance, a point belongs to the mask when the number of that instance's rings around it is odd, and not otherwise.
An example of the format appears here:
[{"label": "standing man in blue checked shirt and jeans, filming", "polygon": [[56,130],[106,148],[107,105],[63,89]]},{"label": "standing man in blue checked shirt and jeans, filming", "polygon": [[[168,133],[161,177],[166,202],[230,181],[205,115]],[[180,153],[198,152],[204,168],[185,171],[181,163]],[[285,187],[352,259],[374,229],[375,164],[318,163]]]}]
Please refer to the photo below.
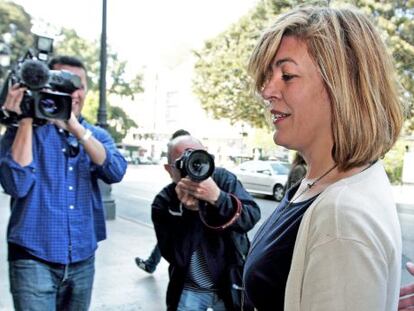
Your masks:
[{"label": "standing man in blue checked shirt and jeans, filming", "polygon": [[[16,310],[88,310],[97,242],[106,238],[98,179],[119,182],[127,163],[113,139],[81,116],[86,69],[74,57],[49,67],[81,79],[67,121],[33,126],[23,117],[0,147],[0,181],[11,196],[10,290]],[[3,105],[21,114],[25,88],[14,85]]]}]

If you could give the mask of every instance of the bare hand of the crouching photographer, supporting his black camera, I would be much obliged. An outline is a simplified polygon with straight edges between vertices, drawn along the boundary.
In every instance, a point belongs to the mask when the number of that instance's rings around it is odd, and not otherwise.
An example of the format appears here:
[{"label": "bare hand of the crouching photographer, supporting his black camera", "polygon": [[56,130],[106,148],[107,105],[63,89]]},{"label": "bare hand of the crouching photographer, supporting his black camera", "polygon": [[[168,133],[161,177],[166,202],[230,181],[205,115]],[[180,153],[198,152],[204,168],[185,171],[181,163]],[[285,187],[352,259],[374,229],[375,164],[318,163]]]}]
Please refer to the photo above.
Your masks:
[{"label": "bare hand of the crouching photographer, supporting his black camera", "polygon": [[216,204],[220,196],[220,188],[211,177],[202,182],[195,182],[186,177],[182,178],[179,184],[181,184],[183,191],[187,192],[190,196],[198,200],[206,201],[212,205]]}]

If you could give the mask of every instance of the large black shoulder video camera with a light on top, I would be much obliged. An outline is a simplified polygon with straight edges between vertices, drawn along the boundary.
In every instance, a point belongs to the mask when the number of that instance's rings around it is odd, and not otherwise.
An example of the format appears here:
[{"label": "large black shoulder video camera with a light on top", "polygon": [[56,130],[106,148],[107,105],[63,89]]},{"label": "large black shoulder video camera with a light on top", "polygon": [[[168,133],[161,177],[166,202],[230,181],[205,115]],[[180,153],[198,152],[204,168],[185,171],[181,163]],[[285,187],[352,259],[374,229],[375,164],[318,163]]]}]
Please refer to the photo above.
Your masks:
[{"label": "large black shoulder video camera with a light on top", "polygon": [[8,90],[16,83],[27,87],[20,104],[21,115],[0,110],[0,123],[17,125],[24,117],[43,125],[47,119],[68,120],[72,112],[71,94],[81,87],[80,78],[65,70],[49,70],[47,61],[53,51],[53,39],[36,36],[35,48],[29,49],[12,68],[0,92],[0,106]]}]

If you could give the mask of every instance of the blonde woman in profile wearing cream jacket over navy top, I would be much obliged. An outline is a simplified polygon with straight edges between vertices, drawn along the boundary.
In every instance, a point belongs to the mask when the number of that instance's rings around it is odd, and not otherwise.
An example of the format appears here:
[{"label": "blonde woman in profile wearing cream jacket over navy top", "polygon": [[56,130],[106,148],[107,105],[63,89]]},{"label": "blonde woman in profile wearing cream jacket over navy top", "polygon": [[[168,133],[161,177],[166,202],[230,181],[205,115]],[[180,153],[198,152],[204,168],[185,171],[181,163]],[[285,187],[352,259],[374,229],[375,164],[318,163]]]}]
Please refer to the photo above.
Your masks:
[{"label": "blonde woman in profile wearing cream jacket over navy top", "polygon": [[279,16],[250,59],[274,141],[307,163],[258,230],[244,282],[256,309],[396,310],[401,232],[379,160],[403,111],[393,62],[353,8]]}]

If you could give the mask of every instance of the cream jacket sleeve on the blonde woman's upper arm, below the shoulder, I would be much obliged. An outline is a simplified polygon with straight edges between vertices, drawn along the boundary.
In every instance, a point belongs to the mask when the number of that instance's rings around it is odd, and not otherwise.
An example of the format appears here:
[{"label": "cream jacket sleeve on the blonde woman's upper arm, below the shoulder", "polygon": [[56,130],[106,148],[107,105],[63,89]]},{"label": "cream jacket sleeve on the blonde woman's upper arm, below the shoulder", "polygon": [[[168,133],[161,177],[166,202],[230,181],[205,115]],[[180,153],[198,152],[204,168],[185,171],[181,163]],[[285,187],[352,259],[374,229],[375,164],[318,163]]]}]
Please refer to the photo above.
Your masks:
[{"label": "cream jacket sleeve on the blonde woman's upper arm, below the shoulder", "polygon": [[341,238],[315,247],[308,258],[301,311],[389,311],[388,267],[381,254]]}]

